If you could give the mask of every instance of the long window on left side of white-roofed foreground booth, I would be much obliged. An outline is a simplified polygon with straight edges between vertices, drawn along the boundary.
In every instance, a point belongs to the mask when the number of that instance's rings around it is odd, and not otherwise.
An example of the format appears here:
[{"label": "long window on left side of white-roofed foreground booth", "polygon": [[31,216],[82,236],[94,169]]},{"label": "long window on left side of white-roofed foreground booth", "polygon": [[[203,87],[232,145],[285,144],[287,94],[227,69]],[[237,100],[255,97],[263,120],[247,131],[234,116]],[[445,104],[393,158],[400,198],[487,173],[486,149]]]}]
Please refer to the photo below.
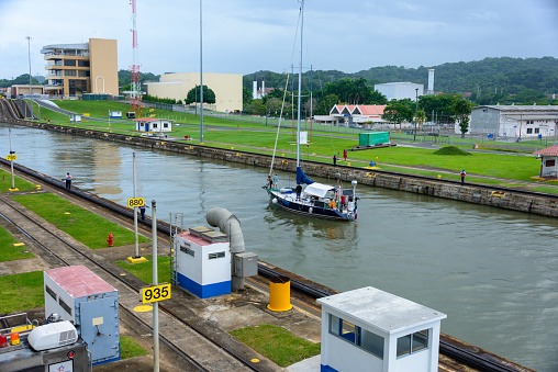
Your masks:
[{"label": "long window on left side of white-roofed foreground booth", "polygon": [[330,314],[330,334],[383,359],[383,337]]}]

